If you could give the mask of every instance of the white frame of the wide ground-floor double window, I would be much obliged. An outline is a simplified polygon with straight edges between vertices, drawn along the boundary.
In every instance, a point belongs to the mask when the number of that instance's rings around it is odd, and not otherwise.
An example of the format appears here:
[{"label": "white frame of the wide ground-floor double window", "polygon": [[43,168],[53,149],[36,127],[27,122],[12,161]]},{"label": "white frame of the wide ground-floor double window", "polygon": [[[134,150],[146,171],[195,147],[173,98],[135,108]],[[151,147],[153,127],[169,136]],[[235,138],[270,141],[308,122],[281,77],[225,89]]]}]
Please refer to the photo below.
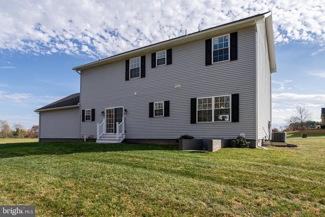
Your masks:
[{"label": "white frame of the wide ground-floor double window", "polygon": [[[229,97],[229,108],[224,108],[224,109],[229,109],[229,117],[228,120],[215,120],[215,110],[220,110],[220,108],[215,108],[215,98],[217,97]],[[207,103],[207,108],[206,109],[199,109],[199,100],[200,99],[209,99],[211,98],[211,108],[208,108],[208,103]],[[222,108],[221,108],[222,109]],[[203,110],[211,110],[211,121],[199,121],[199,111]],[[220,95],[220,96],[213,96],[213,97],[201,97],[197,98],[197,123],[213,123],[213,122],[231,122],[231,116],[232,116],[232,95]]]}]

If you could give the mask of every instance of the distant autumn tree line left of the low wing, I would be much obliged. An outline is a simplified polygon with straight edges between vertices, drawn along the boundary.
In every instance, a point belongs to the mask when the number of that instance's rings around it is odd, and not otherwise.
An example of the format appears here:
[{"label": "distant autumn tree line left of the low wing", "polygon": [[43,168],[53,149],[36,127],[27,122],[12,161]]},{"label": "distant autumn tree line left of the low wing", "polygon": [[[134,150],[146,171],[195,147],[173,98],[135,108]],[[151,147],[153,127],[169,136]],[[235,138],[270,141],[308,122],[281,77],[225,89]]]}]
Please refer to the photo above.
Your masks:
[{"label": "distant autumn tree line left of the low wing", "polygon": [[33,125],[30,129],[24,128],[20,123],[14,123],[10,128],[7,120],[0,120],[0,138],[38,138],[39,126]]}]

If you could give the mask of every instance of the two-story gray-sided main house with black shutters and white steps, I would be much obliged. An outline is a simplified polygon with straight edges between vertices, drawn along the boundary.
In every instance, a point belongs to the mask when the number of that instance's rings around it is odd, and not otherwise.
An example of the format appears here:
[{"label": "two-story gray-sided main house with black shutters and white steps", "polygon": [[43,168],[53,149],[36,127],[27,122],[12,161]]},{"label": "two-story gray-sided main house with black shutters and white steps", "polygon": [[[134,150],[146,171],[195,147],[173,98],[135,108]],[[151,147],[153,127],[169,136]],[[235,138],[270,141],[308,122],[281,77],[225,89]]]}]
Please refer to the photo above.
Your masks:
[{"label": "two-story gray-sided main house with black shutters and white steps", "polygon": [[[271,12],[73,70],[80,74],[79,120],[65,121],[76,121],[79,138],[173,143],[185,134],[196,139],[242,135],[256,147],[271,134],[271,77],[276,72]],[[42,122],[45,111],[37,111],[40,131],[50,129]],[[54,111],[65,112],[53,110],[52,118]],[[60,137],[46,133],[40,140]]]}]

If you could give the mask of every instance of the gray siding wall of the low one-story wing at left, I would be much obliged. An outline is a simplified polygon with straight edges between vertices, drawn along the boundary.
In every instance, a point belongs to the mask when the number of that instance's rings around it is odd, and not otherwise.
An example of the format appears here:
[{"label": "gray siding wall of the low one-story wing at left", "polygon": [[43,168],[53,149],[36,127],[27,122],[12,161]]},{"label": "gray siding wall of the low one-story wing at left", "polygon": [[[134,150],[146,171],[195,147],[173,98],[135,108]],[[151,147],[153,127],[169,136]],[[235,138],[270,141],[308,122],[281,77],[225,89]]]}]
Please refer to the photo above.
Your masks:
[{"label": "gray siding wall of the low one-story wing at left", "polygon": [[40,139],[79,139],[79,108],[40,112]]}]

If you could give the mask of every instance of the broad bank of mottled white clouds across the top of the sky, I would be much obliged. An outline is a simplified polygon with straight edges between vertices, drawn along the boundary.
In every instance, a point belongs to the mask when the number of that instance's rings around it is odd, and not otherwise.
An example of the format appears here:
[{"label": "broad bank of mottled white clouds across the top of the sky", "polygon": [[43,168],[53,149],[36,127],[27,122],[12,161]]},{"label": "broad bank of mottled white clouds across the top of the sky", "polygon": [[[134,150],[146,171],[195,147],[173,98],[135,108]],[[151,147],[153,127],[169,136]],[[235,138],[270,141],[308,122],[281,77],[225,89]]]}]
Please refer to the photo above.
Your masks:
[{"label": "broad bank of mottled white clouds across the top of the sky", "polygon": [[324,44],[324,1],[31,0],[0,3],[0,49],[97,58],[267,11],[273,13],[275,42]]}]

